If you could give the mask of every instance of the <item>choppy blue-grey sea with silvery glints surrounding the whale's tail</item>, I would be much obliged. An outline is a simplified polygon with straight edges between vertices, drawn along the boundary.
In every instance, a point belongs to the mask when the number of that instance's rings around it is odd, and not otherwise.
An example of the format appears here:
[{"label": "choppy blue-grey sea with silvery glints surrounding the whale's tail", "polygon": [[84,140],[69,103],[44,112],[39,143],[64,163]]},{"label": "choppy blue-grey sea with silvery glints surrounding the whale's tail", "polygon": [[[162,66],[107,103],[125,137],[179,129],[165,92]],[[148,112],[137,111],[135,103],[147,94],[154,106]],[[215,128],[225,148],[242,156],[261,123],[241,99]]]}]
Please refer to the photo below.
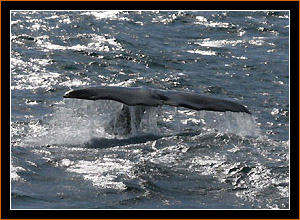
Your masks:
[{"label": "choppy blue-grey sea with silvery glints surrounding the whale's tail", "polygon": [[[252,115],[148,107],[115,135],[120,103],[63,98],[97,85]],[[288,12],[11,12],[11,208],[288,209],[289,178]]]}]

